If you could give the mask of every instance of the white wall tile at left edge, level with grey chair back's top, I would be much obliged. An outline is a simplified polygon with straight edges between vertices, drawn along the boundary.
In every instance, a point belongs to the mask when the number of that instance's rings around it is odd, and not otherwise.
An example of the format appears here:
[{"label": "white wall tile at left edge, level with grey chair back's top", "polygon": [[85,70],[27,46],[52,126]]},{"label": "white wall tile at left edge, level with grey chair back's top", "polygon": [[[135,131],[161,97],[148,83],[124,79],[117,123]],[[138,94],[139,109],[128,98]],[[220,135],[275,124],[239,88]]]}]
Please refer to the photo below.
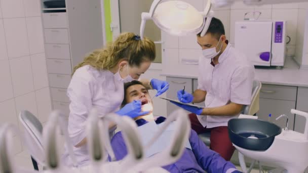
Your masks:
[{"label": "white wall tile at left edge, level with grey chair back's top", "polygon": [[6,122],[10,122],[18,126],[14,99],[0,102],[0,110],[0,126]]}]

